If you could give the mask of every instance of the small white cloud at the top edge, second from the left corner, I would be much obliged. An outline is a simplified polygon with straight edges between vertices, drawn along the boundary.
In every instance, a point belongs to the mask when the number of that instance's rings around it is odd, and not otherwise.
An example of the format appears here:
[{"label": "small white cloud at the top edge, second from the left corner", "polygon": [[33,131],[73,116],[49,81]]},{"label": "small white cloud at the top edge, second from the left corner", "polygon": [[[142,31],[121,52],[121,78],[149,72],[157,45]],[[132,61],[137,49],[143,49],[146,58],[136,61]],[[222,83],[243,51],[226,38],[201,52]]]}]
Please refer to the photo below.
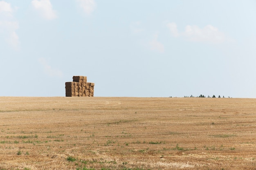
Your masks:
[{"label": "small white cloud at the top edge, second from the left corner", "polygon": [[52,9],[50,0],[32,0],[31,4],[46,20],[57,18],[56,11]]}]

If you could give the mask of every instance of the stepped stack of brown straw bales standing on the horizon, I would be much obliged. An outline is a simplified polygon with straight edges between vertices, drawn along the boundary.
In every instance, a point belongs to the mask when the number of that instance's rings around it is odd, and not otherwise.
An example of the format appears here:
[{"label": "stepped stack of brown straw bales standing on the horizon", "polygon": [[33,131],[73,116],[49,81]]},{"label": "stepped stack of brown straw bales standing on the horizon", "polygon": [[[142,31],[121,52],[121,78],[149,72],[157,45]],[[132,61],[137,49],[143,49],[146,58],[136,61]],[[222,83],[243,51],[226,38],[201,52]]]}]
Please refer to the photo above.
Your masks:
[{"label": "stepped stack of brown straw bales standing on the horizon", "polygon": [[87,83],[85,76],[73,76],[73,82],[66,82],[66,97],[93,97],[94,83]]}]

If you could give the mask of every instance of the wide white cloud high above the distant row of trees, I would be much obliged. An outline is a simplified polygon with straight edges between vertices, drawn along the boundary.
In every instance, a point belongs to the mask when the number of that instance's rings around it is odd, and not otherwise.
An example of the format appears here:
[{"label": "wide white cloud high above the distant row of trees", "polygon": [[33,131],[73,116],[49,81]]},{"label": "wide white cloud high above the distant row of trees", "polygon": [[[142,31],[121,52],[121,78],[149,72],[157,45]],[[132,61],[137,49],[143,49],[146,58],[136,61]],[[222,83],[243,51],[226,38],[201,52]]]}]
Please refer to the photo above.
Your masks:
[{"label": "wide white cloud high above the distant row of trees", "polygon": [[227,41],[225,34],[212,25],[207,25],[204,28],[199,28],[196,25],[187,25],[185,31],[181,33],[178,32],[177,25],[174,22],[168,23],[167,27],[174,37],[182,37],[187,41],[210,42],[216,44]]}]

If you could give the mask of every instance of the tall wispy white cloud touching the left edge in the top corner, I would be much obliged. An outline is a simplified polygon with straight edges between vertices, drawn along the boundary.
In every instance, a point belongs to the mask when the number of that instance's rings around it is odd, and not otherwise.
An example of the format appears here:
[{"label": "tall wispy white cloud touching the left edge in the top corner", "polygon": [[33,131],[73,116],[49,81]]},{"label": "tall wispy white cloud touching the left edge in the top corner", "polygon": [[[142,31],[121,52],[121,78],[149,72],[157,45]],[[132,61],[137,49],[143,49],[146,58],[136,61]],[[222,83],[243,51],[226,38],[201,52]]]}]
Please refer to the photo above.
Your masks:
[{"label": "tall wispy white cloud touching the left edge in the top corner", "polygon": [[13,17],[15,11],[10,3],[0,1],[0,34],[3,34],[6,42],[14,49],[19,47],[19,37],[16,30],[19,28],[19,23]]}]

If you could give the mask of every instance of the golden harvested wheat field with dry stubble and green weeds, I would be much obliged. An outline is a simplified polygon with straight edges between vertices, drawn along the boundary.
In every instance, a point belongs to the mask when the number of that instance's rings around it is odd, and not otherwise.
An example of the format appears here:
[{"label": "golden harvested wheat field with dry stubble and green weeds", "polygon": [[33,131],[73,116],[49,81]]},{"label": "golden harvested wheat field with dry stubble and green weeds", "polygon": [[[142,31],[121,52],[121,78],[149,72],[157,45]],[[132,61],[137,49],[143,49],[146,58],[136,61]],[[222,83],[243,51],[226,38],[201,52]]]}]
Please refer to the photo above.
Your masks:
[{"label": "golden harvested wheat field with dry stubble and green weeds", "polygon": [[256,169],[256,99],[0,97],[0,170]]}]

